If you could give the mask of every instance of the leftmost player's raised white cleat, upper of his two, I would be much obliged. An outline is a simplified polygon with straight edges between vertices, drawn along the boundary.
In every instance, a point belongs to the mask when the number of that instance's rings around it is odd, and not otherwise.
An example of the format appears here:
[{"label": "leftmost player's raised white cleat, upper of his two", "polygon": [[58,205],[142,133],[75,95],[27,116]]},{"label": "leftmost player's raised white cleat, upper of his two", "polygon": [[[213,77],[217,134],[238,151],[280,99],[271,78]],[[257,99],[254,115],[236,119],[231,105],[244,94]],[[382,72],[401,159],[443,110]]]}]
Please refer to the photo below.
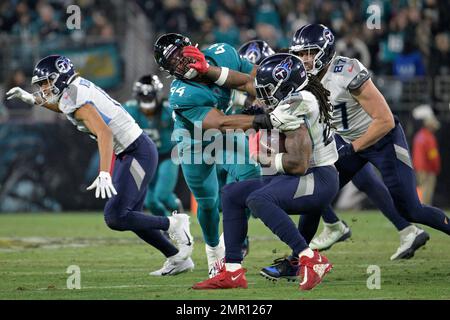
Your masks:
[{"label": "leftmost player's raised white cleat, upper of his two", "polygon": [[181,258],[187,259],[191,256],[194,249],[194,238],[189,230],[190,217],[185,213],[172,212],[169,218],[170,225],[167,230],[169,236],[175,241],[178,247],[178,255]]}]

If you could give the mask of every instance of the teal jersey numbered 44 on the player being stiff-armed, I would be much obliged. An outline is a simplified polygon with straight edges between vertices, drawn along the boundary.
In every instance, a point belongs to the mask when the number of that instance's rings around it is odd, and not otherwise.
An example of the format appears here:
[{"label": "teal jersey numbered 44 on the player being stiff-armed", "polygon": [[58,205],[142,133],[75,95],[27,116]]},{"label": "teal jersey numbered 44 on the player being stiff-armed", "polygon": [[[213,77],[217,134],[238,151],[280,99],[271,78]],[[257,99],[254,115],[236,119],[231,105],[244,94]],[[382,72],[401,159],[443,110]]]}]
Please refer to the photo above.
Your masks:
[{"label": "teal jersey numbered 44 on the player being stiff-armed", "polygon": [[[229,44],[213,44],[202,52],[211,65],[228,67],[243,73],[250,73],[253,69],[253,64],[241,58],[236,49]],[[193,129],[196,122],[203,121],[212,108],[226,112],[230,96],[230,89],[215,84],[174,80],[170,87],[169,103],[175,111],[175,128],[189,130],[194,140]]]}]

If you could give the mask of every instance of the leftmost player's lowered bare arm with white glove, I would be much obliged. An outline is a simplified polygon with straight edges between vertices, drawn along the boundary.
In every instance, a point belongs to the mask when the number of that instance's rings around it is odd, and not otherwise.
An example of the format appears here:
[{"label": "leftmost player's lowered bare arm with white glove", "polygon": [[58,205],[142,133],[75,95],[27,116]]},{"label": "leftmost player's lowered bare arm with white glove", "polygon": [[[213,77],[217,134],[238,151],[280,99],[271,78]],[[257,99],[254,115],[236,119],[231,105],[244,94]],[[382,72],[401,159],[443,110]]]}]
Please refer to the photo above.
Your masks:
[{"label": "leftmost player's lowered bare arm with white glove", "polygon": [[100,195],[102,199],[105,197],[111,198],[112,195],[117,194],[109,173],[113,156],[113,135],[111,129],[106,125],[105,121],[103,121],[95,107],[89,103],[75,111],[75,118],[83,121],[89,131],[97,137],[100,154],[100,173],[87,190],[95,188],[96,198]]}]

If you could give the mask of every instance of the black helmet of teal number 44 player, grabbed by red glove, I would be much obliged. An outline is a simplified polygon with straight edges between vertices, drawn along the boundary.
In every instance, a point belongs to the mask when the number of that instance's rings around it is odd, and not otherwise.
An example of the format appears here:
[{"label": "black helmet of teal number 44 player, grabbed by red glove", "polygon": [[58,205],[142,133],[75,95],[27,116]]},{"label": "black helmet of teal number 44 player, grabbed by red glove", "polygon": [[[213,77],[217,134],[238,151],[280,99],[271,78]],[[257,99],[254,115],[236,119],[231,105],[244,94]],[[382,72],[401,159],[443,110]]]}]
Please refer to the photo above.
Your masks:
[{"label": "black helmet of teal number 44 player, grabbed by red glove", "polygon": [[155,61],[161,70],[185,79],[190,70],[189,64],[195,63],[191,58],[183,56],[183,47],[192,45],[191,40],[178,33],[163,34],[155,42]]}]

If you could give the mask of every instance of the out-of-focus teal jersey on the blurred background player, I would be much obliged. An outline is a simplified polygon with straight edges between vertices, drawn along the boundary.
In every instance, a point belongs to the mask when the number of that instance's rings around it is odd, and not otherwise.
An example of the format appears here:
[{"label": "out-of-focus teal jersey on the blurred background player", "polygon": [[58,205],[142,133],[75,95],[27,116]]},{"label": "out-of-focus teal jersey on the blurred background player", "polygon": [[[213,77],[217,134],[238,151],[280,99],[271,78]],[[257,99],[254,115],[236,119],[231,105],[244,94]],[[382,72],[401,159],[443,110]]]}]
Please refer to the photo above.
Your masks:
[{"label": "out-of-focus teal jersey on the blurred background player", "polygon": [[125,110],[136,120],[137,124],[153,140],[158,153],[165,154],[172,150],[175,141],[171,140],[173,131],[172,109],[168,101],[163,101],[161,112],[152,118],[147,118],[139,109],[136,100],[124,104]]}]

